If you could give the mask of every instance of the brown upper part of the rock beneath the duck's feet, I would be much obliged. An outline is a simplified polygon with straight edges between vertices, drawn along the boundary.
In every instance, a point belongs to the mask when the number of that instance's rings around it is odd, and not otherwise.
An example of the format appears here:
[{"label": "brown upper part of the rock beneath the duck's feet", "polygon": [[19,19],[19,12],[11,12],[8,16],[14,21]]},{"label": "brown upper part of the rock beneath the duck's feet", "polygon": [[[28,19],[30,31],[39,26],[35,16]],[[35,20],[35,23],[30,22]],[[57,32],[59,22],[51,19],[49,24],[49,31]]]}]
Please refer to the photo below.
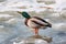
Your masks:
[{"label": "brown upper part of the rock beneath the duck's feet", "polygon": [[42,36],[42,35],[33,35],[33,36],[29,36],[28,37],[29,40],[44,40],[46,41],[47,43],[51,43],[52,42],[52,37],[48,37],[48,36]]}]

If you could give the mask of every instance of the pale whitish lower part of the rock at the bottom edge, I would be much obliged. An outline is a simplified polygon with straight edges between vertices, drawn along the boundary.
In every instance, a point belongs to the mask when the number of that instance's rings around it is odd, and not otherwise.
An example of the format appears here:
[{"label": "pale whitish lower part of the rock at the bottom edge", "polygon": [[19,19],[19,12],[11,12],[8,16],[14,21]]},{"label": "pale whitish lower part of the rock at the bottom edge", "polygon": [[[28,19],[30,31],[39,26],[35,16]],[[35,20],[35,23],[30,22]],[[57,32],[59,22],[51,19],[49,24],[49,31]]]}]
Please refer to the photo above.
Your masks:
[{"label": "pale whitish lower part of the rock at the bottom edge", "polygon": [[30,40],[30,41],[28,41],[28,40],[23,40],[23,41],[21,41],[20,43],[13,43],[13,44],[48,44],[46,41],[43,41],[43,40]]}]

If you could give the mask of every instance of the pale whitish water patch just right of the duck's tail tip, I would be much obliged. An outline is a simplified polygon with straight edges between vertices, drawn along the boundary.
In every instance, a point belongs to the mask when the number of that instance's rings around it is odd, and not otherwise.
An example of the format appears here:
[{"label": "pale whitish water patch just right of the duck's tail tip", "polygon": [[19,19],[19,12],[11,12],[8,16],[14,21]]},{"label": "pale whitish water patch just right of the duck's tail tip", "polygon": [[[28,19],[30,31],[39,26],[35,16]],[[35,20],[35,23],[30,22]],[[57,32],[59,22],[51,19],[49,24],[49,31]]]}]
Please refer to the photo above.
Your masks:
[{"label": "pale whitish water patch just right of the duck's tail tip", "polygon": [[66,23],[53,23],[52,29],[56,31],[66,31]]}]

